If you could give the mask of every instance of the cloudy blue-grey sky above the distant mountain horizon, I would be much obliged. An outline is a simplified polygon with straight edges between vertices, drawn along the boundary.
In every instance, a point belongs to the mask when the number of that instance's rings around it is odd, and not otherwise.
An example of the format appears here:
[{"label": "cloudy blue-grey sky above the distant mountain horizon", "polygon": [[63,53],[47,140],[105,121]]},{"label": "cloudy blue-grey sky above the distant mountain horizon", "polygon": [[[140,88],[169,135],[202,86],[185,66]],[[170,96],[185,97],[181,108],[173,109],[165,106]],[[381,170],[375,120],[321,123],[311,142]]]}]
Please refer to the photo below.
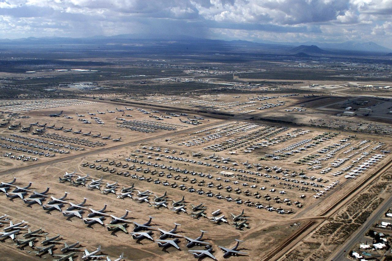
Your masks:
[{"label": "cloudy blue-grey sky above the distant mountain horizon", "polygon": [[392,0],[0,0],[0,38],[140,33],[392,48]]}]

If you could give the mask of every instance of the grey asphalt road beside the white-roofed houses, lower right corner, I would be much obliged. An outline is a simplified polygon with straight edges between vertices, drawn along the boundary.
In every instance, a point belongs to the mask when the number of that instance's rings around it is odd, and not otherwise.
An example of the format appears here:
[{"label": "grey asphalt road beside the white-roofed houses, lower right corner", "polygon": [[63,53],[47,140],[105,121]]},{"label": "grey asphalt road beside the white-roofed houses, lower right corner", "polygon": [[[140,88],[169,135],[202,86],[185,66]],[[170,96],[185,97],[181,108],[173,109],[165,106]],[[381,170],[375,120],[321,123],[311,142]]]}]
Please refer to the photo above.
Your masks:
[{"label": "grey asphalt road beside the white-roofed houses, lower right corner", "polygon": [[355,231],[353,236],[351,236],[348,241],[346,241],[342,246],[340,246],[334,252],[334,254],[332,254],[332,257],[329,258],[329,260],[331,261],[345,260],[346,255],[348,255],[348,252],[350,252],[352,246],[365,235],[365,233],[370,229],[370,227],[372,227],[373,224],[376,223],[376,221],[380,218],[381,214],[387,211],[387,209],[390,207],[391,204],[392,204],[392,195],[390,195],[390,197],[377,208],[376,212],[373,212],[373,214],[367,219],[367,221],[363,223],[363,225]]}]

